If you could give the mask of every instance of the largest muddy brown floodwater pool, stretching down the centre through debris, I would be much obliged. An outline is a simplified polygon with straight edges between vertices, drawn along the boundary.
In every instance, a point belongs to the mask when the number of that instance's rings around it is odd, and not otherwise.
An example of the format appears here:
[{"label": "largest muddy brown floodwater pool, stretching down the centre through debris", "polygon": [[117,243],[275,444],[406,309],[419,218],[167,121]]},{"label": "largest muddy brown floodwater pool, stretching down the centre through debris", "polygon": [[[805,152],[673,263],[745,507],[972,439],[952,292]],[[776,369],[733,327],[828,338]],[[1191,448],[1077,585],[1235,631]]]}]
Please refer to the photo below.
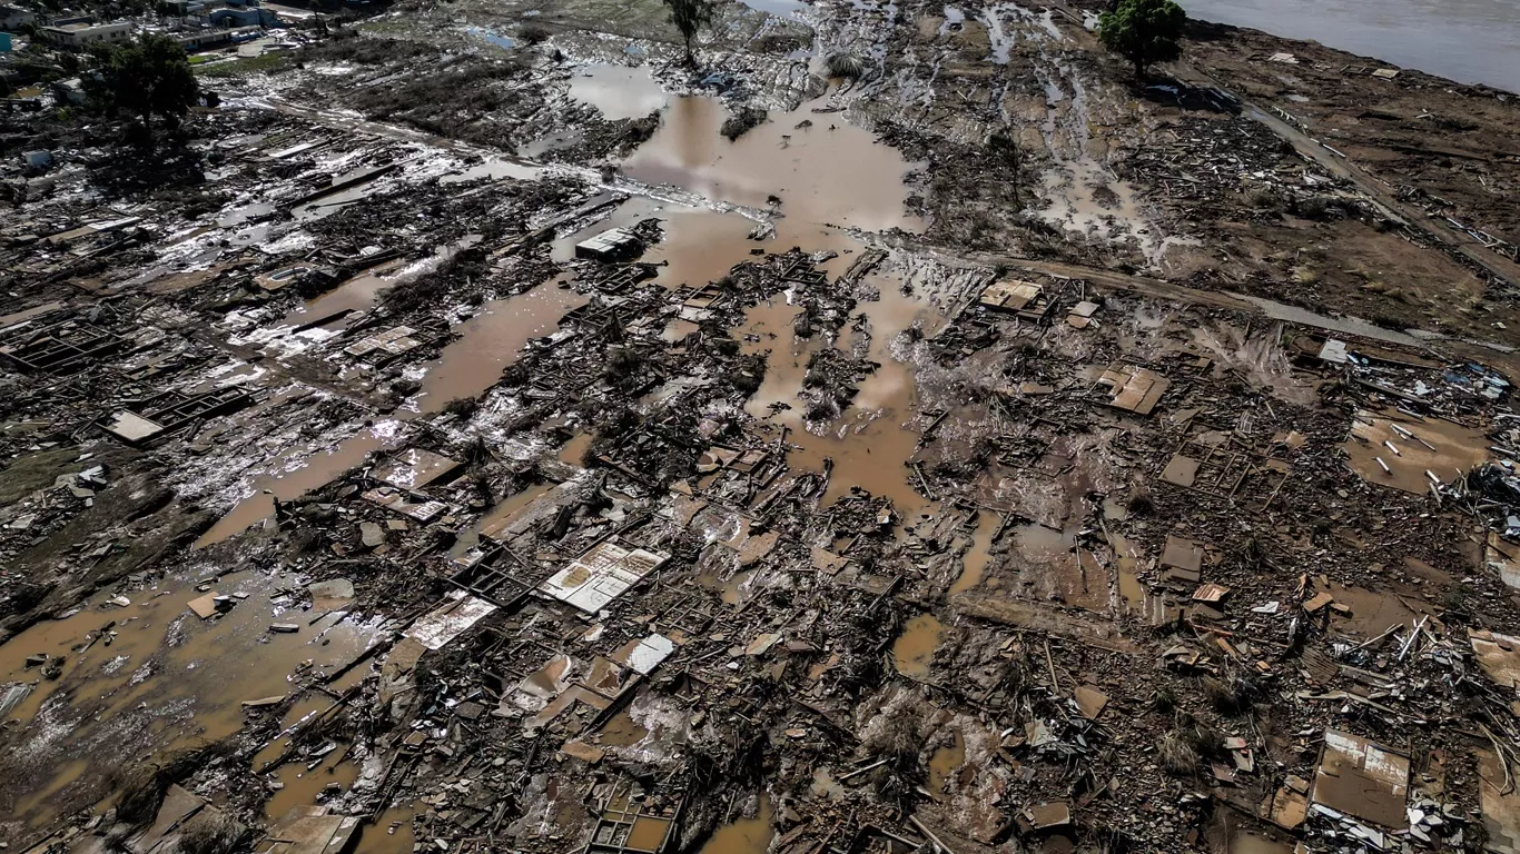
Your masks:
[{"label": "largest muddy brown floodwater pool, stretching down the centre through debris", "polygon": [[[637,81],[637,73],[617,68],[605,74],[638,97],[641,84],[626,82]],[[591,234],[655,217],[664,239],[641,260],[658,264],[657,281],[666,287],[717,281],[734,264],[751,260],[757,248],[833,252],[818,269],[838,277],[866,249],[866,243],[838,226],[920,229],[923,222],[904,210],[909,190],[903,178],[914,164],[838,112],[815,112],[816,103],[772,114],[737,141],[728,141],[719,134],[728,115],[722,102],[676,97],[663,114],[660,131],[626,160],[623,172],[644,184],[670,187],[666,195],[672,198],[690,199],[696,193],[749,213],[634,198],[605,220],[556,242],[556,260],[568,260],[575,243]],[[787,441],[798,447],[790,456],[795,470],[831,467],[825,504],[860,486],[872,495],[891,497],[901,514],[917,514],[927,503],[909,486],[904,465],[917,450],[918,433],[903,427],[915,403],[915,387],[910,368],[897,360],[891,343],[915,322],[932,327],[939,318],[921,301],[904,296],[897,278],[871,277],[866,284],[880,290],[882,298],[860,302],[856,310],[871,330],[869,346],[860,356],[880,368],[859,386],[854,400],[833,418],[806,419],[806,403],[798,395],[807,362],[819,348],[848,350],[848,333],[839,340],[824,334],[800,339],[793,330],[798,305],[775,298],[751,308],[733,333],[746,353],[769,351],[765,381],[746,410],[789,429]],[[676,324],[667,337],[678,340],[693,328]]]}]

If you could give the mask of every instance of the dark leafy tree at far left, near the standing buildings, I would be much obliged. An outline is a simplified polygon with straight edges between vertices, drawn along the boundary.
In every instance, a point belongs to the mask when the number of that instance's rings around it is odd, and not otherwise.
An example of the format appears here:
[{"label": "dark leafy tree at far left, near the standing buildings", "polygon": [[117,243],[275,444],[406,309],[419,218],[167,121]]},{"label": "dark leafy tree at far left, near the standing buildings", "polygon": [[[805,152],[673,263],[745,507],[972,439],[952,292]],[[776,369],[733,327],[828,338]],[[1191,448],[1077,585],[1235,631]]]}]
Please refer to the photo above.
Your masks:
[{"label": "dark leafy tree at far left, near the standing buildings", "polygon": [[173,129],[196,102],[199,87],[184,47],[167,35],[146,33],[131,44],[90,49],[94,67],[84,74],[85,94],[106,115],[126,114]]}]

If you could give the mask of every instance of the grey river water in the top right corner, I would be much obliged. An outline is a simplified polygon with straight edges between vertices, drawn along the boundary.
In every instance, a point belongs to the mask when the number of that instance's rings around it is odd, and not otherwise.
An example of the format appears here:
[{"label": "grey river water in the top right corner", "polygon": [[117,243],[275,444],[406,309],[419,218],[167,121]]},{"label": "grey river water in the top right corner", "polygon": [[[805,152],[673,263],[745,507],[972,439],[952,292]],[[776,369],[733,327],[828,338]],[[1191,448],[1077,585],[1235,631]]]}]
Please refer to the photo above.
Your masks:
[{"label": "grey river water in the top right corner", "polygon": [[1520,93],[1517,0],[1181,0],[1205,21],[1376,56]]}]

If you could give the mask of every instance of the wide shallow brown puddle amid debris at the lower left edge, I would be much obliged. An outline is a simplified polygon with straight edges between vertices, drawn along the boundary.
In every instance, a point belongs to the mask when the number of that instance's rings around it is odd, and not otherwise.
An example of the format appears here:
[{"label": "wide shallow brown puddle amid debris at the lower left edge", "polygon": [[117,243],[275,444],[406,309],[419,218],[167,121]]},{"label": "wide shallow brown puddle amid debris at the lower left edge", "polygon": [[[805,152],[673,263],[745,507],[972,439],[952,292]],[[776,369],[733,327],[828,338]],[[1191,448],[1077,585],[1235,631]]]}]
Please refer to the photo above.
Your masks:
[{"label": "wide shallow brown puddle amid debris at the lower left edge", "polygon": [[[35,682],[8,714],[20,723],[0,752],[0,766],[40,780],[35,796],[8,810],[14,818],[32,827],[50,821],[58,807],[50,796],[76,781],[99,793],[94,786],[123,755],[231,735],[243,725],[245,701],[286,694],[296,673],[344,667],[375,635],[342,611],[292,608],[299,597],[287,590],[299,585],[290,576],[214,571],[190,567],[125,594],[125,605],[100,594],[0,646],[0,682]],[[188,603],[210,593],[234,603],[202,620]],[[295,631],[271,631],[275,623]],[[43,655],[49,664],[35,664]]]}]

